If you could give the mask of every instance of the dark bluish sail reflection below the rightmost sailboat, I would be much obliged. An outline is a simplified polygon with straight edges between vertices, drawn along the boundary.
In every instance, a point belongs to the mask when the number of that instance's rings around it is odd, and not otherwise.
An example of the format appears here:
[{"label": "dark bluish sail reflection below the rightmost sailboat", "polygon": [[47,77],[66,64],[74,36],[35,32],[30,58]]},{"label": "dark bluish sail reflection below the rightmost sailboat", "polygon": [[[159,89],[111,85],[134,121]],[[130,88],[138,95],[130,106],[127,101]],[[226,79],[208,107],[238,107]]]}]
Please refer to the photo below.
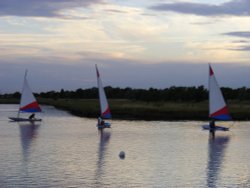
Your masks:
[{"label": "dark bluish sail reflection below the rightmost sailboat", "polygon": [[228,136],[217,136],[208,140],[207,187],[217,187],[216,183],[229,141]]}]

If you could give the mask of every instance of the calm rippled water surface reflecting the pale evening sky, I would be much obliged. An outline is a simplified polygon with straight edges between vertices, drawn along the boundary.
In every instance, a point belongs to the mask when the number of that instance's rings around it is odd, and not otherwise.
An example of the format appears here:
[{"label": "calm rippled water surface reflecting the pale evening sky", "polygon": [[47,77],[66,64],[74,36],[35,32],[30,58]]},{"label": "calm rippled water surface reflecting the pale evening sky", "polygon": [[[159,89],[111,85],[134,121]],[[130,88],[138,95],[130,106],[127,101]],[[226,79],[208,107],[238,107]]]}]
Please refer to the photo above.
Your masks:
[{"label": "calm rippled water surface reflecting the pale evening sky", "polygon": [[[214,140],[205,122],[112,121],[43,106],[42,123],[0,105],[0,187],[250,187],[250,122]],[[125,152],[125,159],[119,153]]]}]

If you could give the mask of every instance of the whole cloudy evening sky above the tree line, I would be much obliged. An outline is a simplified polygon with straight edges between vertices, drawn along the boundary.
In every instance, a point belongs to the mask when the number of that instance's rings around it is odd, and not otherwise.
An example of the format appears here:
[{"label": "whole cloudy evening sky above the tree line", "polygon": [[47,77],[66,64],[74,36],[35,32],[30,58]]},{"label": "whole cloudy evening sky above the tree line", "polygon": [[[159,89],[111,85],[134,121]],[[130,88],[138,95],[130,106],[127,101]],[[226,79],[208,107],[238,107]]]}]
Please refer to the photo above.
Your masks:
[{"label": "whole cloudy evening sky above the tree line", "polygon": [[249,0],[2,0],[0,93],[250,87]]}]

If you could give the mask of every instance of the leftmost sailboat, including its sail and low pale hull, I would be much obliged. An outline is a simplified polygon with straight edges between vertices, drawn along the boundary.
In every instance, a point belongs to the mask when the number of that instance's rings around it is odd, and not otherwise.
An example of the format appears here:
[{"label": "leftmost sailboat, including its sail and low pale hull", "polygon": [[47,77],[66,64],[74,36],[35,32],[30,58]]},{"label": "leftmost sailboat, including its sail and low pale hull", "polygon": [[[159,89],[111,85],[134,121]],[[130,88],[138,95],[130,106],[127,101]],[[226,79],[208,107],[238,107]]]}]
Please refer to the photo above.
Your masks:
[{"label": "leftmost sailboat, including its sail and low pale hull", "polygon": [[[35,96],[33,95],[28,81],[27,81],[27,70],[25,71],[24,75],[24,82],[23,82],[23,88],[21,93],[21,100],[20,105],[17,113],[17,117],[9,117],[10,120],[20,122],[20,121],[41,121],[41,119],[37,118],[21,118],[20,113],[36,113],[41,112],[41,108],[36,101]],[[34,116],[34,115],[33,115]]]}]

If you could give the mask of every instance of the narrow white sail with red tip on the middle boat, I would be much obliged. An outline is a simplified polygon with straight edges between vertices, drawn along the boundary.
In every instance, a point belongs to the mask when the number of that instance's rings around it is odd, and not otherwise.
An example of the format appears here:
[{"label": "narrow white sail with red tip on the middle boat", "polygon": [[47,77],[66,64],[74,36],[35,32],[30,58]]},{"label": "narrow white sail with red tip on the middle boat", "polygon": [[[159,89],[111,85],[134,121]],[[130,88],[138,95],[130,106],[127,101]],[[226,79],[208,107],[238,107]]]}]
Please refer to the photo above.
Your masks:
[{"label": "narrow white sail with red tip on the middle boat", "polygon": [[95,68],[96,68],[97,85],[98,85],[98,91],[99,91],[99,102],[100,102],[100,107],[101,107],[101,117],[104,119],[109,119],[111,118],[111,113],[110,113],[107,97],[102,86],[102,80],[100,78],[97,65],[95,65]]}]

